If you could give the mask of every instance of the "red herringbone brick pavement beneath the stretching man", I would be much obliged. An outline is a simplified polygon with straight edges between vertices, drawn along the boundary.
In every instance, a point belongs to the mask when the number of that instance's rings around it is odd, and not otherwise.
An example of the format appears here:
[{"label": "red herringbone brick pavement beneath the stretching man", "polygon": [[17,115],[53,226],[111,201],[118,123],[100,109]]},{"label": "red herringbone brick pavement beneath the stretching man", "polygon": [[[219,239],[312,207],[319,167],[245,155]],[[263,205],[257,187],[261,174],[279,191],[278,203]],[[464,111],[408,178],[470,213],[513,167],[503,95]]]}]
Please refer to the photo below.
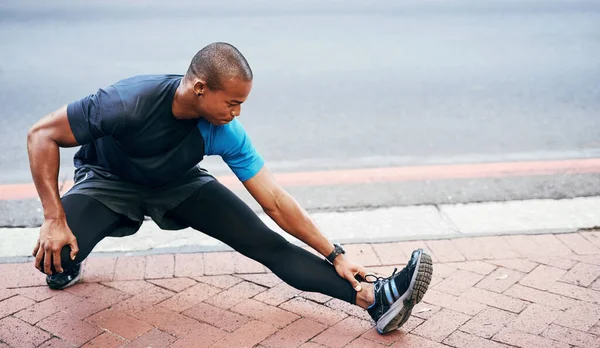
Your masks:
[{"label": "red herringbone brick pavement beneath the stretching man", "polygon": [[349,245],[386,274],[415,247],[434,278],[385,336],[366,312],[282,283],[237,253],[91,257],[52,291],[1,264],[4,347],[600,347],[600,232]]}]

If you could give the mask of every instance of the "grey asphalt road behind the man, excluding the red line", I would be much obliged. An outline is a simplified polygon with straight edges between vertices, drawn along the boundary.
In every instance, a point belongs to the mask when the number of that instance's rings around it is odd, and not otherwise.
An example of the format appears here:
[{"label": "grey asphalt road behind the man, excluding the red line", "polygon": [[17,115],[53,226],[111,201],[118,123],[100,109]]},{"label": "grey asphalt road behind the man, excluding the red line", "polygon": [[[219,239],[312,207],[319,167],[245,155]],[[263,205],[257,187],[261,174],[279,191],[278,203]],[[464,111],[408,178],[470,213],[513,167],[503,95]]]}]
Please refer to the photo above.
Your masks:
[{"label": "grey asphalt road behind the man, excluding the red line", "polygon": [[[240,120],[276,171],[600,157],[598,1],[135,4],[0,2],[0,184],[30,181],[38,118],[131,75],[184,73],[213,41],[254,70]],[[560,198],[600,194],[600,176],[301,191],[314,209]],[[0,225],[35,221],[32,207],[0,203]]]}]

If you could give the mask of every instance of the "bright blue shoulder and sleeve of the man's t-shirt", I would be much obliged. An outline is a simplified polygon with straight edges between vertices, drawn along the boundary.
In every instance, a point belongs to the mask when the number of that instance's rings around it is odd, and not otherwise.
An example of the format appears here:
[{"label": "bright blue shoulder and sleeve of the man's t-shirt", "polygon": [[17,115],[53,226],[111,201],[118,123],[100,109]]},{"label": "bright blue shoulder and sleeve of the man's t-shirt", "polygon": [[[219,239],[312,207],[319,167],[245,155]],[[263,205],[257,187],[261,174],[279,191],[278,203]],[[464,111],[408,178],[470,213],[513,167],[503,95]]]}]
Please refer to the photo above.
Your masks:
[{"label": "bright blue shoulder and sleeve of the man's t-shirt", "polygon": [[198,128],[204,138],[205,154],[221,156],[240,181],[252,178],[264,166],[264,159],[237,119],[223,126],[214,126],[201,118]]}]

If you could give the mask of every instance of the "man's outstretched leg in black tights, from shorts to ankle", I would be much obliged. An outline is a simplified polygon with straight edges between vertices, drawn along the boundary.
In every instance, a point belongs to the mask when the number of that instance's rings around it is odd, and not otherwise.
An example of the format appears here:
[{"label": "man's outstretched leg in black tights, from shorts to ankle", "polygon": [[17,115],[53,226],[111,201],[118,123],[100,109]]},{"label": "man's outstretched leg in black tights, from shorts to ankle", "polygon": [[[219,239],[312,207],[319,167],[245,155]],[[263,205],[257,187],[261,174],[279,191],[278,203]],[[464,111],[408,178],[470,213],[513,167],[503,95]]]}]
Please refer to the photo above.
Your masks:
[{"label": "man's outstretched leg in black tights, from shorts to ankle", "polygon": [[210,182],[170,211],[169,216],[254,259],[289,285],[355,304],[356,291],[327,261],[269,229],[233,192]]}]

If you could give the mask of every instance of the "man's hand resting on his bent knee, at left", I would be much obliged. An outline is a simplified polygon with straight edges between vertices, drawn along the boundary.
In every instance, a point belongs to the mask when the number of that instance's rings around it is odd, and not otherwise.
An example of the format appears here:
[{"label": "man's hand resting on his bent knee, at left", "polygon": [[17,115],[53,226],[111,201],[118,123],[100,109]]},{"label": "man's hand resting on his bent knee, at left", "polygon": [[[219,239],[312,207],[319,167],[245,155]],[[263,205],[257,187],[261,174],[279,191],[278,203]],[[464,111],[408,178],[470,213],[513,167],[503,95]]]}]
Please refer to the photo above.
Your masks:
[{"label": "man's hand resting on his bent knee, at left", "polygon": [[42,270],[40,265],[43,259],[44,273],[52,274],[52,263],[54,263],[54,269],[62,273],[60,252],[67,244],[71,247],[71,260],[75,260],[79,247],[77,246],[77,238],[67,225],[67,220],[65,218],[46,219],[42,224],[40,237],[33,249],[35,268]]}]

